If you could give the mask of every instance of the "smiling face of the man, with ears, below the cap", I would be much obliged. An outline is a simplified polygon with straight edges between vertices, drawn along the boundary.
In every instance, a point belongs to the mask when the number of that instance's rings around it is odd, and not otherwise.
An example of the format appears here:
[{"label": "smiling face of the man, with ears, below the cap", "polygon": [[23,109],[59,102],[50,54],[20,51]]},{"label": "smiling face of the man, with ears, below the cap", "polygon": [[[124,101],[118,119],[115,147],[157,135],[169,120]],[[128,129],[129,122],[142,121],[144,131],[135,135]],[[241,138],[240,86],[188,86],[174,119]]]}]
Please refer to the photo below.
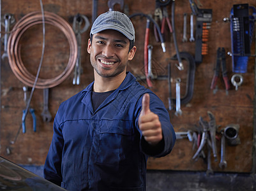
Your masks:
[{"label": "smiling face of the man, with ears, below the cap", "polygon": [[129,39],[118,31],[105,30],[94,34],[87,46],[94,77],[125,76],[127,62],[133,59],[136,52],[135,46],[129,52],[129,45]]}]

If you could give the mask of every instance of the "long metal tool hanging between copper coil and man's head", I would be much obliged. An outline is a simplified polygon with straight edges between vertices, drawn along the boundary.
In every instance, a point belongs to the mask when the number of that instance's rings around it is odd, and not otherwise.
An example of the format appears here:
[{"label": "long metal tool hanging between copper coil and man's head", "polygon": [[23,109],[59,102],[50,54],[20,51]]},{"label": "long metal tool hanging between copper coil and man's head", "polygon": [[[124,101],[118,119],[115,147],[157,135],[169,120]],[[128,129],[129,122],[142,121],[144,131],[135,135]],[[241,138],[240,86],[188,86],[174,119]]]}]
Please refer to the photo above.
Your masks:
[{"label": "long metal tool hanging between copper coil and man's head", "polygon": [[[81,29],[81,25],[84,22],[84,27]],[[77,60],[75,62],[73,85],[80,84],[80,74],[82,73],[81,66],[81,34],[89,28],[89,19],[85,15],[79,13],[73,18],[73,31],[77,39]]]}]

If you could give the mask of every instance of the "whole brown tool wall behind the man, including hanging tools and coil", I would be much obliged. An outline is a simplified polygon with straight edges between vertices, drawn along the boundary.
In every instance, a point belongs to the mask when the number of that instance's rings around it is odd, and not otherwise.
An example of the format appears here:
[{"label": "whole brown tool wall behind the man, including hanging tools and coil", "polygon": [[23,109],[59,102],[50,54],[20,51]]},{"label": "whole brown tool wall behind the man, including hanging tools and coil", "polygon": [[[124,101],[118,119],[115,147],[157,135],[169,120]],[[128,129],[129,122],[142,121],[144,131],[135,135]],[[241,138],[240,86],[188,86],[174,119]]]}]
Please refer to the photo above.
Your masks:
[{"label": "whole brown tool wall behind the man, including hanging tools and coil", "polygon": [[59,104],[93,81],[91,24],[119,10],[136,31],[128,70],[162,99],[177,134],[148,168],[254,172],[254,0],[42,2],[45,27],[39,0],[1,2],[1,156],[44,164]]}]

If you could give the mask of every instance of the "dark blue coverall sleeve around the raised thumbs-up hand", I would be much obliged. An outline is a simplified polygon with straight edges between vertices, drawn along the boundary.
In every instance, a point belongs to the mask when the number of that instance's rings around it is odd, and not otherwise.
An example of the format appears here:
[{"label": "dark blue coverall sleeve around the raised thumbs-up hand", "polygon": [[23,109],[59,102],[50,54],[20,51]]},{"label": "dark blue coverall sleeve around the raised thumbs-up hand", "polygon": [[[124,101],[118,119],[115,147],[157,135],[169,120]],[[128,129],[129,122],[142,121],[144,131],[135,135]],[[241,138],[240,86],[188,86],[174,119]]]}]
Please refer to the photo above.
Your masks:
[{"label": "dark blue coverall sleeve around the raised thumbs-up hand", "polygon": [[[156,146],[149,145],[147,141],[144,139],[140,132],[141,141],[140,146],[142,149],[142,152],[144,152],[146,155],[149,155],[151,157],[163,157],[167,154],[169,154],[172,151],[172,148],[174,147],[174,143],[176,141],[176,135],[174,132],[174,128],[172,127],[172,124],[170,123],[170,117],[167,109],[165,108],[165,105],[161,101],[159,97],[157,97],[155,94],[149,94],[150,95],[150,103],[149,103],[149,109],[158,115],[159,120],[162,125],[162,133],[163,133],[163,139],[158,143]],[[139,99],[139,105],[140,105],[140,111],[141,111],[141,103],[142,103],[142,97]],[[140,111],[138,114],[140,114]],[[137,116],[137,124],[139,120],[139,115]],[[139,125],[138,125],[139,129]],[[139,130],[140,131],[140,130]]]}]

